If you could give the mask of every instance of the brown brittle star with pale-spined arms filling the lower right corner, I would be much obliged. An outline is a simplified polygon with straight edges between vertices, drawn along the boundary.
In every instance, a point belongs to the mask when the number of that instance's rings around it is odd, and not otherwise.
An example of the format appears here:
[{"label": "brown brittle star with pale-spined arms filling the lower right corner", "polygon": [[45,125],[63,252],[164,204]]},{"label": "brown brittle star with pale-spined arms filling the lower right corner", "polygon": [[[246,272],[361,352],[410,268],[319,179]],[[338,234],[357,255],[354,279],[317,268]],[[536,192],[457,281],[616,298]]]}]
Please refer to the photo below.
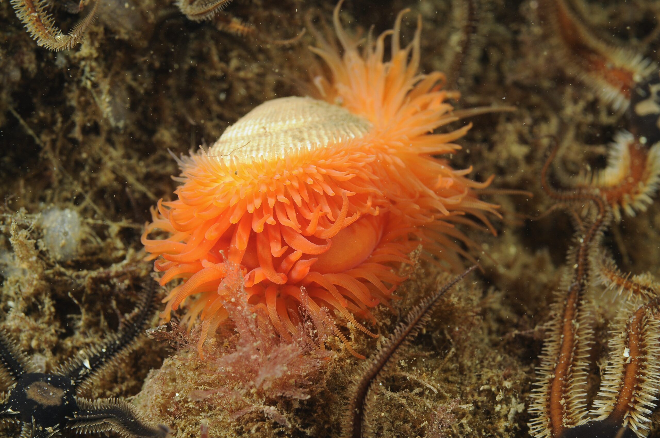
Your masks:
[{"label": "brown brittle star with pale-spined arms filling the lower right corner", "polygon": [[[603,230],[612,211],[596,190],[577,188],[557,191],[547,183],[550,154],[541,172],[546,194],[569,208],[578,225],[576,247],[569,251],[571,266],[560,287],[559,299],[550,308],[537,388],[529,408],[535,438],[645,437],[649,415],[660,394],[660,288],[649,276],[622,274],[601,245]],[[591,204],[591,214],[582,219],[571,206]],[[595,209],[595,212],[593,211]],[[609,364],[601,379],[598,398],[588,405],[590,350],[595,342],[591,287],[601,283],[617,289],[616,311],[623,317],[609,342]]]}]

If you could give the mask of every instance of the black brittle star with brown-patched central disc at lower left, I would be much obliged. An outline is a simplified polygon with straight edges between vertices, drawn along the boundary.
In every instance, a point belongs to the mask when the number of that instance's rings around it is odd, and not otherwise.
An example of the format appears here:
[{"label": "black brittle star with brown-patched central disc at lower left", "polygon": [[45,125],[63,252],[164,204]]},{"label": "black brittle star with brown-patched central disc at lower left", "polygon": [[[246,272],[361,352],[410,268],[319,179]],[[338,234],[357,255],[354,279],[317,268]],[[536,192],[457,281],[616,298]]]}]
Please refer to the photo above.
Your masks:
[{"label": "black brittle star with brown-patched central disc at lower left", "polygon": [[62,363],[53,373],[34,369],[9,333],[0,330],[0,365],[11,379],[0,397],[0,422],[20,423],[20,438],[50,438],[68,429],[79,433],[116,431],[127,438],[166,438],[166,425],[151,425],[123,398],[90,400],[79,394],[102,369],[125,356],[145,330],[154,309],[155,288],[137,305],[135,315],[119,331],[78,358]]}]

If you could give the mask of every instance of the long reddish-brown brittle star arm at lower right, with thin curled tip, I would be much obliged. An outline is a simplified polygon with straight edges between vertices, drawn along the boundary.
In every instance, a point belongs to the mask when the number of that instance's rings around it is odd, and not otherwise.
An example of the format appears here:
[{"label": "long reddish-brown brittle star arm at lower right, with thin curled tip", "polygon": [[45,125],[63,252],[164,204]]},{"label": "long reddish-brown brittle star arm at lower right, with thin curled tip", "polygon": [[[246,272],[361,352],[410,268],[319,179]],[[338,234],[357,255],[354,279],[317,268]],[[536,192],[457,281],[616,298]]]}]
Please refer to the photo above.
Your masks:
[{"label": "long reddish-brown brittle star arm at lower right, with thin curled tip", "polygon": [[529,432],[535,438],[562,437],[568,428],[586,421],[587,369],[593,329],[591,302],[585,295],[593,275],[591,261],[609,222],[609,209],[597,194],[581,189],[560,191],[548,184],[548,170],[556,153],[554,146],[541,171],[545,193],[567,206],[592,204],[596,212],[576,232],[576,247],[569,251],[568,257],[572,270],[564,279],[560,298],[550,309],[552,321],[546,332],[541,365],[537,369],[537,388],[532,392],[529,408],[535,416],[529,422]]}]

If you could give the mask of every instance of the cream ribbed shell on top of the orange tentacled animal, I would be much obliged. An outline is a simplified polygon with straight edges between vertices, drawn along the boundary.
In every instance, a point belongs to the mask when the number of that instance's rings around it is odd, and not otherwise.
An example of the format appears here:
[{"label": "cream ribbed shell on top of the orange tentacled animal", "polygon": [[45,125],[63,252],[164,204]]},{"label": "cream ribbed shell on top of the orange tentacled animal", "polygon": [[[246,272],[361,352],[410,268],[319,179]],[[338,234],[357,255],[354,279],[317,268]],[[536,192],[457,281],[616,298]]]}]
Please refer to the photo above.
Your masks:
[{"label": "cream ribbed shell on top of the orange tentacled animal", "polygon": [[239,162],[277,160],[283,151],[309,151],[314,146],[364,136],[371,123],[321,100],[288,97],[269,100],[228,127],[210,155],[235,156]]}]

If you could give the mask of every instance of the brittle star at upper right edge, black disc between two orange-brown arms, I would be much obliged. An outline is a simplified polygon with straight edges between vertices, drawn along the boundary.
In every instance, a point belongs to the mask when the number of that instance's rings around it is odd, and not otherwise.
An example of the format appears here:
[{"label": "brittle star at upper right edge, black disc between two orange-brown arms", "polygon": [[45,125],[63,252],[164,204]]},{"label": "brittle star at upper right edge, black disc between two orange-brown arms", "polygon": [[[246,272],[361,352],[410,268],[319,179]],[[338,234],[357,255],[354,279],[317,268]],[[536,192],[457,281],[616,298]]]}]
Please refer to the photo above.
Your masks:
[{"label": "brittle star at upper right edge, black disc between two orange-brown arms", "polygon": [[[539,18],[558,65],[593,88],[603,104],[625,113],[626,131],[614,135],[607,167],[564,172],[565,181],[582,189],[598,189],[616,222],[624,214],[646,210],[657,193],[660,173],[660,129],[656,110],[660,83],[657,63],[640,53],[597,38],[567,0],[539,0]],[[647,110],[654,108],[654,110]]]}]

